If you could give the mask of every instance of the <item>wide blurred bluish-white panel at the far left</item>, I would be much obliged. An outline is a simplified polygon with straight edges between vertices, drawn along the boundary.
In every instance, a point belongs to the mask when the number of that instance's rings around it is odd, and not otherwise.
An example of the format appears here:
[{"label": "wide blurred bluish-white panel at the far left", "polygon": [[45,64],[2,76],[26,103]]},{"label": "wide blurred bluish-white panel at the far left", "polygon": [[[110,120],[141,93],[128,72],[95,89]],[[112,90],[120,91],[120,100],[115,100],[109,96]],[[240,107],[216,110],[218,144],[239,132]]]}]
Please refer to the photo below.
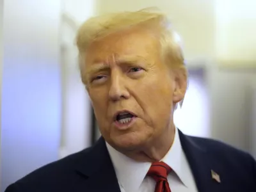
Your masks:
[{"label": "wide blurred bluish-white panel at the far left", "polygon": [[1,191],[58,159],[60,0],[4,1]]}]

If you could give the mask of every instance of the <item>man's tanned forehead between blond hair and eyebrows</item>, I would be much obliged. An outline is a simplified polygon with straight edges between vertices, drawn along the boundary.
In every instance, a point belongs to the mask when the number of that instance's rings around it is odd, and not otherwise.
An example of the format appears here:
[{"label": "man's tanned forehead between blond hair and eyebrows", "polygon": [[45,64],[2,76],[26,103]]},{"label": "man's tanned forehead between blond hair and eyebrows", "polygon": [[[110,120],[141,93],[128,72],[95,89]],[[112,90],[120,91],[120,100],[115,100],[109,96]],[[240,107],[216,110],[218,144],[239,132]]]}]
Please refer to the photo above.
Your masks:
[{"label": "man's tanned forehead between blond hair and eyebrows", "polygon": [[113,58],[154,60],[159,54],[156,36],[147,29],[132,28],[119,31],[93,42],[86,51],[86,68]]}]

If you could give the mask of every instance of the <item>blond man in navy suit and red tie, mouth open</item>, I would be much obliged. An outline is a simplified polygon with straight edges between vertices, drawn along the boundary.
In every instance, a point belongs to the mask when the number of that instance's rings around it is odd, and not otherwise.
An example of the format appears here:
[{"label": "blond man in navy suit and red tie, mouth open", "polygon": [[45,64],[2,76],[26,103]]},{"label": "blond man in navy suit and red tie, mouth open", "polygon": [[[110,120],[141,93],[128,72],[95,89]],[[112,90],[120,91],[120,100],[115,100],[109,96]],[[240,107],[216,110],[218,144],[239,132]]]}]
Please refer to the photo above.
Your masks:
[{"label": "blond man in navy suit and red tie, mouth open", "polygon": [[6,192],[256,191],[256,163],[249,154],[186,136],[173,124],[187,70],[163,14],[94,17],[79,29],[77,47],[102,138]]}]

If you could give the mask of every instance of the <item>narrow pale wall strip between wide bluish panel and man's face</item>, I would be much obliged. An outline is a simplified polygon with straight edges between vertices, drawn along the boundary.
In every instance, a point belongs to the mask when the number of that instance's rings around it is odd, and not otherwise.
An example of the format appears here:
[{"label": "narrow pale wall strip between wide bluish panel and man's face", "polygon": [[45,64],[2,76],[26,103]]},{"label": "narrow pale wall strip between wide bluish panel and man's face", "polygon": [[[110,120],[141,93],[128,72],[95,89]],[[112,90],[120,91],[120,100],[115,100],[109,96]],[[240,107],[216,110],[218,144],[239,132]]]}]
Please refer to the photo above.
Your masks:
[{"label": "narrow pale wall strip between wide bluish panel and man's face", "polygon": [[81,82],[76,31],[84,20],[94,14],[93,0],[63,0],[61,20],[62,126],[60,157],[65,157],[91,142],[90,99]]}]

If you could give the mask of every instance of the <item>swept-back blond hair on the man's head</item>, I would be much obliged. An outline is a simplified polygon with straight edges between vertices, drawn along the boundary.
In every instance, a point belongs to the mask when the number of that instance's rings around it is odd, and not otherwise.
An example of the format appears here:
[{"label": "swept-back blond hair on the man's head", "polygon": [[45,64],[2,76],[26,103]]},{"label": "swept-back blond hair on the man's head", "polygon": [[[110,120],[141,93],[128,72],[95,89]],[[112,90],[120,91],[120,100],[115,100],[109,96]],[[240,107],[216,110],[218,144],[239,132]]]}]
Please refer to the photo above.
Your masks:
[{"label": "swept-back blond hair on the man's head", "polygon": [[83,79],[84,56],[88,47],[113,33],[143,26],[156,32],[161,45],[161,56],[166,65],[184,68],[184,56],[179,35],[175,33],[168,17],[161,12],[152,12],[149,8],[136,12],[109,13],[92,17],[77,31],[76,45],[79,51],[79,65]]}]

